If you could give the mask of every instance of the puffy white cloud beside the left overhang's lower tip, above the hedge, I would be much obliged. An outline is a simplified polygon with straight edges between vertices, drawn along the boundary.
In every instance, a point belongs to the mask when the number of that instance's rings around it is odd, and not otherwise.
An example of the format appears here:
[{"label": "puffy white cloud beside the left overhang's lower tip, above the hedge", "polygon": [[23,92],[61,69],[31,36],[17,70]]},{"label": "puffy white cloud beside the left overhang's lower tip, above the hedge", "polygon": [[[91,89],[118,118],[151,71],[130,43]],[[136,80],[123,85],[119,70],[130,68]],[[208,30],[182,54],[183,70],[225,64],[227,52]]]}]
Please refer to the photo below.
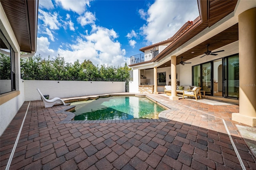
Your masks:
[{"label": "puffy white cloud beside the left overhang's lower tip, above the hedge", "polygon": [[37,38],[37,47],[36,47],[36,55],[42,55],[43,58],[48,58],[50,55],[51,58],[57,56],[53,49],[49,48],[50,42],[46,37]]}]

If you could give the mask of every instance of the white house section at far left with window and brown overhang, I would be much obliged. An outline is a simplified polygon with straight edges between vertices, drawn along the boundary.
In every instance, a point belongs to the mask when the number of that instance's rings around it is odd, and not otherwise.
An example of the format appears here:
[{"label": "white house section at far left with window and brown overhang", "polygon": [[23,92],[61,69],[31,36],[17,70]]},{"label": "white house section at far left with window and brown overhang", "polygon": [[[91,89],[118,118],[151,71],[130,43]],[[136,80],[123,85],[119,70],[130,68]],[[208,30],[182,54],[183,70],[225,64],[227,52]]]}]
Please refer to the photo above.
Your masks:
[{"label": "white house section at far left with window and brown overhang", "polygon": [[[38,0],[1,0],[1,55],[7,63],[6,75],[0,80],[0,134],[24,103],[24,82],[20,78],[20,57],[36,52]],[[26,54],[20,55],[23,51]]]}]

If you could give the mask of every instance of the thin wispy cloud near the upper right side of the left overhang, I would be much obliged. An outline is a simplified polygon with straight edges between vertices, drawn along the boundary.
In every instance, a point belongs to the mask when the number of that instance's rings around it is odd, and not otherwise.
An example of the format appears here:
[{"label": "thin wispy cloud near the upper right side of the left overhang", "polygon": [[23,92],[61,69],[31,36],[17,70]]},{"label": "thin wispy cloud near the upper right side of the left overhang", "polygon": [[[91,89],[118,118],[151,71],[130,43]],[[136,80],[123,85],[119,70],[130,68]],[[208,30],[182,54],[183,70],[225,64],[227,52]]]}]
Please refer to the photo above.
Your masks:
[{"label": "thin wispy cloud near the upper right side of the left overhang", "polygon": [[50,12],[45,12],[43,10],[38,10],[38,18],[44,22],[43,26],[49,27],[51,30],[58,30],[61,26],[60,22],[58,21],[58,14],[54,12],[51,14]]}]

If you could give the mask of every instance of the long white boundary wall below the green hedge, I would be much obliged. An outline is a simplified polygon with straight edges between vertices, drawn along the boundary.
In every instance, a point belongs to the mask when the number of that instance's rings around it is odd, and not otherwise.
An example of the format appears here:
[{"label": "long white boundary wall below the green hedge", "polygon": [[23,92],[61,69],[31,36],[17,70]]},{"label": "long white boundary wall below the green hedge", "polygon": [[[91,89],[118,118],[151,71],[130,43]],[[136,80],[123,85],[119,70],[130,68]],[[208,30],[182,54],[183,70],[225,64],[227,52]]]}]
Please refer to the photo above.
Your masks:
[{"label": "long white boundary wall below the green hedge", "polygon": [[50,99],[125,92],[125,82],[119,81],[24,80],[24,86],[25,101],[41,100],[36,89],[50,95]]}]

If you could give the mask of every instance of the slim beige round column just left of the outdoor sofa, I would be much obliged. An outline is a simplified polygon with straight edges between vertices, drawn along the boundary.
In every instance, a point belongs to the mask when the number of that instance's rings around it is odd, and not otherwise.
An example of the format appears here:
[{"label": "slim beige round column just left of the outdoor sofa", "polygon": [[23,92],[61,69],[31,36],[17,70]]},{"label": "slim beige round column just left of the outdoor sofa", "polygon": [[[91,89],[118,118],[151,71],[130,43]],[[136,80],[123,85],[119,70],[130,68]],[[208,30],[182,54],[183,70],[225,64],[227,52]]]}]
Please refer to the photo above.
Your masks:
[{"label": "slim beige round column just left of the outdoor sofa", "polygon": [[176,55],[171,56],[171,85],[172,95],[169,97],[170,100],[179,100],[176,93]]}]

